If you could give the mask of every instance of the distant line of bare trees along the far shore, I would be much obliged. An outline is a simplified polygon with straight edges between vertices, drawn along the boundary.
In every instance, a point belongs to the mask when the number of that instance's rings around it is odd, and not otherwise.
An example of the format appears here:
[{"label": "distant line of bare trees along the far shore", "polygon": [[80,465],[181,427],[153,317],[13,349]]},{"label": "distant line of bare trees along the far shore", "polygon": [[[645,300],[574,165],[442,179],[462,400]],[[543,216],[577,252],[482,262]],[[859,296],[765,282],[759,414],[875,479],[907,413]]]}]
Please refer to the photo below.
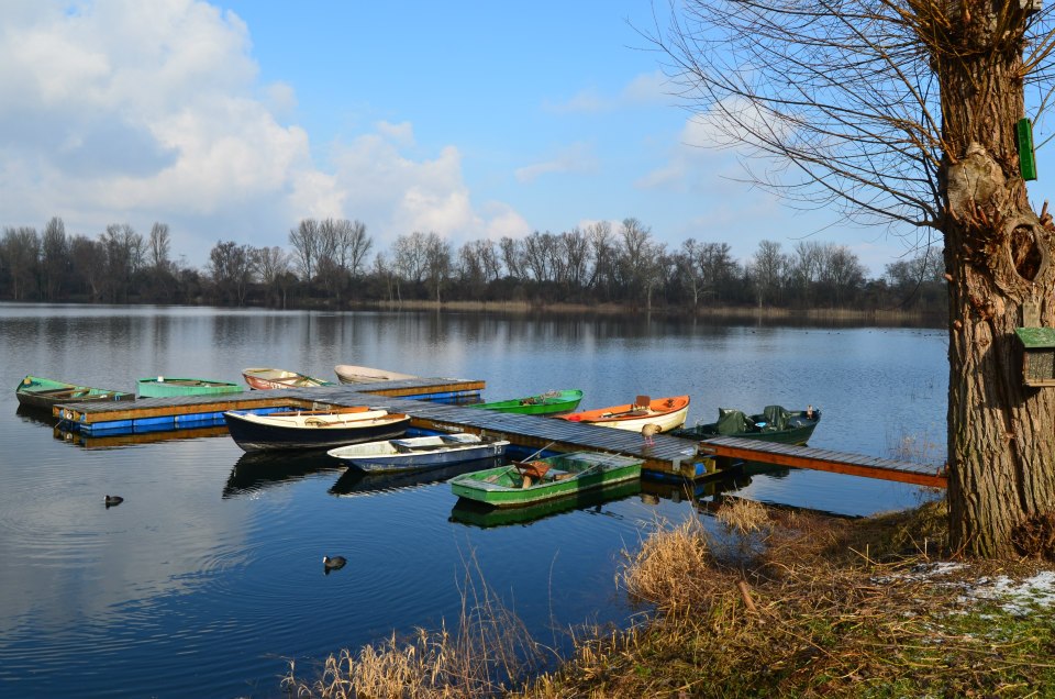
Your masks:
[{"label": "distant line of bare trees along the far shore", "polygon": [[636,219],[565,233],[479,240],[454,249],[436,233],[399,236],[375,251],[366,226],[306,219],[289,247],[218,241],[203,269],[170,258],[170,232],[112,224],[89,237],[54,218],[43,232],[4,228],[0,299],[346,309],[376,302],[515,302],[530,307],[900,309],[944,313],[941,252],[890,263],[878,279],[848,247],[763,241],[746,260],[728,243],[656,241]]}]

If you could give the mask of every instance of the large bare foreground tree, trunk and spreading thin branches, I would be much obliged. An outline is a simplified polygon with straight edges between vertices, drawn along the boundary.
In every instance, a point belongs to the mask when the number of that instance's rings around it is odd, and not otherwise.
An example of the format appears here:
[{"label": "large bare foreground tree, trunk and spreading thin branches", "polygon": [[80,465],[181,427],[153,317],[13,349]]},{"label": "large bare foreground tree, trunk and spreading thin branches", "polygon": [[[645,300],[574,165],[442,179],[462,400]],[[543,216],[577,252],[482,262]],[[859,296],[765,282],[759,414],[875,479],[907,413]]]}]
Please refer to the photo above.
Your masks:
[{"label": "large bare foreground tree, trunk and spreading thin branches", "polygon": [[[1055,510],[1055,390],[1023,386],[1023,307],[1055,325],[1055,235],[1028,200],[1026,88],[1055,32],[1033,0],[687,0],[652,37],[756,184],[944,238],[952,544],[1010,557]],[[1032,154],[1023,153],[1024,157]],[[766,167],[771,165],[773,167]]]}]

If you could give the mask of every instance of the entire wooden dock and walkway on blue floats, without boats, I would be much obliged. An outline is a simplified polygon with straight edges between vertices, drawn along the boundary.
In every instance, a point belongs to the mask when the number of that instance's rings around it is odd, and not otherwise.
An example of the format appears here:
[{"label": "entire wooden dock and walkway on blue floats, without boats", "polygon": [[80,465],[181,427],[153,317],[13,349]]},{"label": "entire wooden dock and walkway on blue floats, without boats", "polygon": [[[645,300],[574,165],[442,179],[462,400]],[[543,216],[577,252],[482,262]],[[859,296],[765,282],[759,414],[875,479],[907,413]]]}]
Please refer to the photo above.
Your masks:
[{"label": "entire wooden dock and walkway on blue floats, without boats", "polygon": [[589,450],[635,456],[643,459],[646,473],[657,476],[696,479],[721,470],[723,459],[730,464],[738,459],[934,488],[946,486],[944,473],[921,464],[736,437],[698,443],[657,434],[654,444],[648,445],[637,432],[436,402],[478,397],[484,385],[465,379],[415,378],[222,396],[146,398],[59,406],[54,417],[62,420],[64,429],[88,437],[116,437],[223,425],[227,410],[370,406],[407,413],[411,428],[417,430],[501,435],[531,451]]}]

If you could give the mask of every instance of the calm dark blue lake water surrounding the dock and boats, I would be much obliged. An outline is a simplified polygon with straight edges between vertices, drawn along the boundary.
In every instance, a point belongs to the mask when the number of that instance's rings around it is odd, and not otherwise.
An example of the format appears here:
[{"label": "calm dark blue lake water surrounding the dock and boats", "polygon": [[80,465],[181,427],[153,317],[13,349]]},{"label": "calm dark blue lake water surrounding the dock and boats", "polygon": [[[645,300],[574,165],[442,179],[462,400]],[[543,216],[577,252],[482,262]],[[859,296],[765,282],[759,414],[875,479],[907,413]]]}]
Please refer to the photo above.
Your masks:
[{"label": "calm dark blue lake water surrounding the dock and boats", "polygon": [[[310,677],[342,647],[456,623],[467,576],[563,647],[573,626],[632,613],[621,551],[657,522],[702,517],[645,485],[535,521],[458,519],[443,481],[371,482],[324,455],[246,458],[222,429],[85,446],[18,410],[29,374],[133,391],[147,376],[241,381],[274,366],[334,379],[334,365],[360,364],[482,379],[487,400],[581,388],[584,409],[689,393],[690,423],[812,403],[813,446],[944,458],[941,330],[0,304],[0,696],[279,696],[290,659]],[[935,497],[804,470],[742,485],[847,515]],[[125,501],[107,509],[106,493]],[[348,565],[324,575],[323,555]]]}]

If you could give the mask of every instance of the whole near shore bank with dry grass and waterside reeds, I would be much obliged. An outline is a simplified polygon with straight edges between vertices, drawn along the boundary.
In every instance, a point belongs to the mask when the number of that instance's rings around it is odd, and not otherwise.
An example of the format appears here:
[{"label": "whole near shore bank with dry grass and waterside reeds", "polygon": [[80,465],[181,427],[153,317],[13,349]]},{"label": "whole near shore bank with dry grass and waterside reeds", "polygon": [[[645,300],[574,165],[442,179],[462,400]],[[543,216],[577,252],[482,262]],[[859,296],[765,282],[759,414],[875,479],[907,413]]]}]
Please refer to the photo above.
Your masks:
[{"label": "whole near shore bank with dry grass and waterside reeds", "polygon": [[645,621],[582,637],[555,672],[538,670],[546,650],[485,595],[458,633],[344,651],[325,676],[291,672],[286,687],[302,697],[1055,696],[1055,572],[956,561],[942,503],[847,521],[729,499],[714,517],[728,536],[690,518],[626,554],[619,585]]}]

